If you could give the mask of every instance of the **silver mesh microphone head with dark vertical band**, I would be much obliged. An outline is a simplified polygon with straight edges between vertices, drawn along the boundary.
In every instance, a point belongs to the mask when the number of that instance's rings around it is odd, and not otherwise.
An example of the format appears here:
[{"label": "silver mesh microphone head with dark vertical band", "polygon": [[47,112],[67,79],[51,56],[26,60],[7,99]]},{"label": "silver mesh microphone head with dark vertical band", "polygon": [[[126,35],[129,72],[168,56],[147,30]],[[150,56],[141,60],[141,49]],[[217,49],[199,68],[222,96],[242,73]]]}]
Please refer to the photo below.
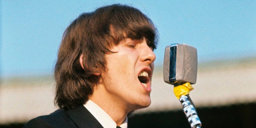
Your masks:
[{"label": "silver mesh microphone head with dark vertical band", "polygon": [[197,50],[187,44],[166,46],[163,59],[163,81],[179,85],[196,84]]}]

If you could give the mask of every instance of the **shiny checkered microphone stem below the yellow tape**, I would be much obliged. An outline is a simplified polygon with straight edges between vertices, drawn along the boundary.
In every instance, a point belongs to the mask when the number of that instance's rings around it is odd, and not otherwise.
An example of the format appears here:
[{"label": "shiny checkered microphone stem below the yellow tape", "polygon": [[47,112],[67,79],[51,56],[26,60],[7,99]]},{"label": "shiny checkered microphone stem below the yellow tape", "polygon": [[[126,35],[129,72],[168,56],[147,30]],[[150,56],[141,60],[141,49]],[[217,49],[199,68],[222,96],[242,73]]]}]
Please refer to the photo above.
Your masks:
[{"label": "shiny checkered microphone stem below the yellow tape", "polygon": [[202,123],[197,115],[196,108],[189,95],[182,95],[179,98],[191,128],[201,128]]}]

